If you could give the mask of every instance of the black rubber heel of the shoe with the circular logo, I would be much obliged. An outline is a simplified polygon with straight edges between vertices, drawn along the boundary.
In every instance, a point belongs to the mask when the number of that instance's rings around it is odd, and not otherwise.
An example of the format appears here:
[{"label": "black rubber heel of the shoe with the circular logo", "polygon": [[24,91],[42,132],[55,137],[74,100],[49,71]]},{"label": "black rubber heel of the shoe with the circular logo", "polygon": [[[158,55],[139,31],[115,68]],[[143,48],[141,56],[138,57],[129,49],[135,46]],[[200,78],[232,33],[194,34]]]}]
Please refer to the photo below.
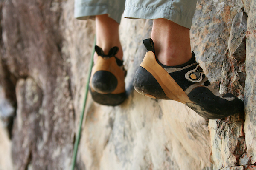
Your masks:
[{"label": "black rubber heel of the shoe with the circular logo", "polygon": [[153,99],[169,99],[157,80],[143,67],[139,67],[134,75],[134,89],[144,96]]}]

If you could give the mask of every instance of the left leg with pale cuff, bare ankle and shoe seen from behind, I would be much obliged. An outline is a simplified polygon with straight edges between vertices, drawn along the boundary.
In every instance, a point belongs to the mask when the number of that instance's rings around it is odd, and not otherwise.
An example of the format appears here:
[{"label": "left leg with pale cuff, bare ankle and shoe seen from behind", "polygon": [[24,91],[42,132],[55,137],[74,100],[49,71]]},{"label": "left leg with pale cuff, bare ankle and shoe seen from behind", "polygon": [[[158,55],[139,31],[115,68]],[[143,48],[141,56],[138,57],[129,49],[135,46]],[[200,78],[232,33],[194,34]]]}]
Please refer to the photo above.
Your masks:
[{"label": "left leg with pale cuff, bare ankle and shoe seen from behind", "polygon": [[75,17],[96,20],[94,66],[90,77],[90,92],[95,102],[118,105],[125,99],[125,71],[119,23],[125,0],[75,0]]}]

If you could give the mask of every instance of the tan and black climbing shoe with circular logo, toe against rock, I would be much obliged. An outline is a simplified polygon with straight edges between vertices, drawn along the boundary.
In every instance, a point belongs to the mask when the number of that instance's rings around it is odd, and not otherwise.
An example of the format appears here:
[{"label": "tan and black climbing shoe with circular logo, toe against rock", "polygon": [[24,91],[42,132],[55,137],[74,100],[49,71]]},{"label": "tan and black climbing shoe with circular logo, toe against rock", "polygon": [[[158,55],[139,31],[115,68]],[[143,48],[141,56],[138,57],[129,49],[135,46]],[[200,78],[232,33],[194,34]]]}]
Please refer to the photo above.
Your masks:
[{"label": "tan and black climbing shoe with circular logo, toe against rock", "polygon": [[148,52],[134,76],[137,92],[154,99],[182,102],[207,119],[244,113],[244,103],[240,99],[231,93],[221,96],[212,88],[193,52],[185,64],[166,66],[157,60],[153,41],[146,39],[143,43]]}]

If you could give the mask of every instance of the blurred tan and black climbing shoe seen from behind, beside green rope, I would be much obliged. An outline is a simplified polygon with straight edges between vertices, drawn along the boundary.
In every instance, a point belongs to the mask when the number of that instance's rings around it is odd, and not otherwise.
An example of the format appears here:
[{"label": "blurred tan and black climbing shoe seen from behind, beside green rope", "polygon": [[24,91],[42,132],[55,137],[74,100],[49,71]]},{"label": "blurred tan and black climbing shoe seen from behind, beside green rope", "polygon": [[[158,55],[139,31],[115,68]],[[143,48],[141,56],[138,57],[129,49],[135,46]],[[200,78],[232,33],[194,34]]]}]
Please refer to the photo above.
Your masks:
[{"label": "blurred tan and black climbing shoe seen from behind, beside green rope", "polygon": [[98,59],[90,76],[90,92],[93,100],[102,105],[119,105],[125,98],[125,70],[123,61],[116,58],[118,47],[113,47],[108,55],[95,46]]}]

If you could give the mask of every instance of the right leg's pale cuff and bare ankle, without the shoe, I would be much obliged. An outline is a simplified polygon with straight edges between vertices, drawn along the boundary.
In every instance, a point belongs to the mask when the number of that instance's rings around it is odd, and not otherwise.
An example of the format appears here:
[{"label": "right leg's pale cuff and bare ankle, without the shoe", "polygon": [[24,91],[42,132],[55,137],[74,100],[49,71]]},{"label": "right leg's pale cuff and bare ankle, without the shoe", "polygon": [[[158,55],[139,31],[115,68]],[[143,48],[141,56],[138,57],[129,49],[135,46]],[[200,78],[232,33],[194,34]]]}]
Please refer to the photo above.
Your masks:
[{"label": "right leg's pale cuff and bare ankle, without the shoe", "polygon": [[151,39],[158,60],[180,65],[191,57],[189,29],[197,0],[126,0],[124,17],[154,19]]}]

